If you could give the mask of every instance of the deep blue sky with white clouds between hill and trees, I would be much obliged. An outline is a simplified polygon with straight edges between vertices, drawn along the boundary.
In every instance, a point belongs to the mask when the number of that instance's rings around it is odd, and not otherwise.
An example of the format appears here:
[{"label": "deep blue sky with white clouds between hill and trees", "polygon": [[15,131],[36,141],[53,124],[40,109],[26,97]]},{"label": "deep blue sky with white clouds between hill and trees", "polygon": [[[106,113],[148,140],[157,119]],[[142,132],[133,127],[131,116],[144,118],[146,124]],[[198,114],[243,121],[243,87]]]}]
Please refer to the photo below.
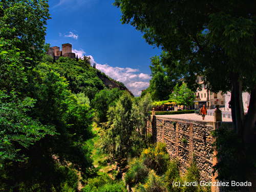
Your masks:
[{"label": "deep blue sky with white clouds between hill and trees", "polygon": [[122,25],[114,0],[50,0],[46,42],[71,43],[74,53],[87,55],[96,67],[123,82],[135,95],[148,86],[150,58],[161,50],[148,45],[142,33]]}]

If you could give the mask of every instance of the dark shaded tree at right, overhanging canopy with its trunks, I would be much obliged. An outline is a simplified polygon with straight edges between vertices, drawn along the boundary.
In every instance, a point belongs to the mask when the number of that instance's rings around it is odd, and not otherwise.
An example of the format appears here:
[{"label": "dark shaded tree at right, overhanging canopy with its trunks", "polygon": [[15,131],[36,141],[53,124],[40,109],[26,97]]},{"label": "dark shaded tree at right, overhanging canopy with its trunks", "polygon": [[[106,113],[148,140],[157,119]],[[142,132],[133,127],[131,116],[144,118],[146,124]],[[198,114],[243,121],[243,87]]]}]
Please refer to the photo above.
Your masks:
[{"label": "dark shaded tree at right, overhanging canopy with its trunks", "polygon": [[[233,125],[245,143],[255,140],[255,4],[250,0],[114,3],[123,13],[122,22],[166,51],[164,66],[181,73],[189,86],[201,75],[212,92],[231,90]],[[251,93],[246,119],[242,90]]]}]

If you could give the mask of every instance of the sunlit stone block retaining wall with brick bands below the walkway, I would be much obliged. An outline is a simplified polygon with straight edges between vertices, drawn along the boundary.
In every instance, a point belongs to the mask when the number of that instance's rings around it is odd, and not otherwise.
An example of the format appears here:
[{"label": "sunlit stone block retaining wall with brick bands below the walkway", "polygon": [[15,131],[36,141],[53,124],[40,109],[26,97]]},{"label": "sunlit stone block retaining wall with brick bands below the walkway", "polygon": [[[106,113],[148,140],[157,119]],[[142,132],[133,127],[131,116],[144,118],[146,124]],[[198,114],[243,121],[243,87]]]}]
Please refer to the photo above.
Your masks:
[{"label": "sunlit stone block retaining wall with brick bands below the walkway", "polygon": [[213,125],[212,122],[151,116],[147,122],[147,132],[152,133],[155,142],[166,143],[170,157],[180,160],[182,174],[195,158],[201,179],[209,182],[214,159]]}]

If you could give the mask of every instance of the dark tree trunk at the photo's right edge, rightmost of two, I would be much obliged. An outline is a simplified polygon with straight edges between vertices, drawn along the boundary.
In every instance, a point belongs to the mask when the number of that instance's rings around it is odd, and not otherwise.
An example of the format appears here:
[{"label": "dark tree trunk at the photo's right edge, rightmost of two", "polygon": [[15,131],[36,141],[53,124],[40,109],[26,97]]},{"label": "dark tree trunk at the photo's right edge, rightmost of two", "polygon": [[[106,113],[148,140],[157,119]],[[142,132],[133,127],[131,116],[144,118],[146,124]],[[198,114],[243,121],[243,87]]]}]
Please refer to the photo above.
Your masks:
[{"label": "dark tree trunk at the photo's right edge, rightmost of two", "polygon": [[243,140],[245,147],[251,147],[255,143],[254,127],[256,122],[256,86],[251,90],[249,108],[244,123]]}]

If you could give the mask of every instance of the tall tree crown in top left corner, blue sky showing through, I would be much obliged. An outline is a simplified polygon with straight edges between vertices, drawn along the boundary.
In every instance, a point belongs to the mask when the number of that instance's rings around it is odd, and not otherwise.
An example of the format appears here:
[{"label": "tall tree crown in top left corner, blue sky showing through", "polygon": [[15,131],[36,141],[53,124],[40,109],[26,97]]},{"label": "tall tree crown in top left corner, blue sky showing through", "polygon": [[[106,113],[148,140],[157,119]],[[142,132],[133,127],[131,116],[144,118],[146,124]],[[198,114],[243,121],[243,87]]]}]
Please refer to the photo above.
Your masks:
[{"label": "tall tree crown in top left corner, blue sky showing through", "polygon": [[25,51],[25,55],[30,58],[41,60],[47,20],[50,18],[48,1],[1,1],[0,9],[3,10],[0,37],[19,39],[15,42],[18,49]]}]

